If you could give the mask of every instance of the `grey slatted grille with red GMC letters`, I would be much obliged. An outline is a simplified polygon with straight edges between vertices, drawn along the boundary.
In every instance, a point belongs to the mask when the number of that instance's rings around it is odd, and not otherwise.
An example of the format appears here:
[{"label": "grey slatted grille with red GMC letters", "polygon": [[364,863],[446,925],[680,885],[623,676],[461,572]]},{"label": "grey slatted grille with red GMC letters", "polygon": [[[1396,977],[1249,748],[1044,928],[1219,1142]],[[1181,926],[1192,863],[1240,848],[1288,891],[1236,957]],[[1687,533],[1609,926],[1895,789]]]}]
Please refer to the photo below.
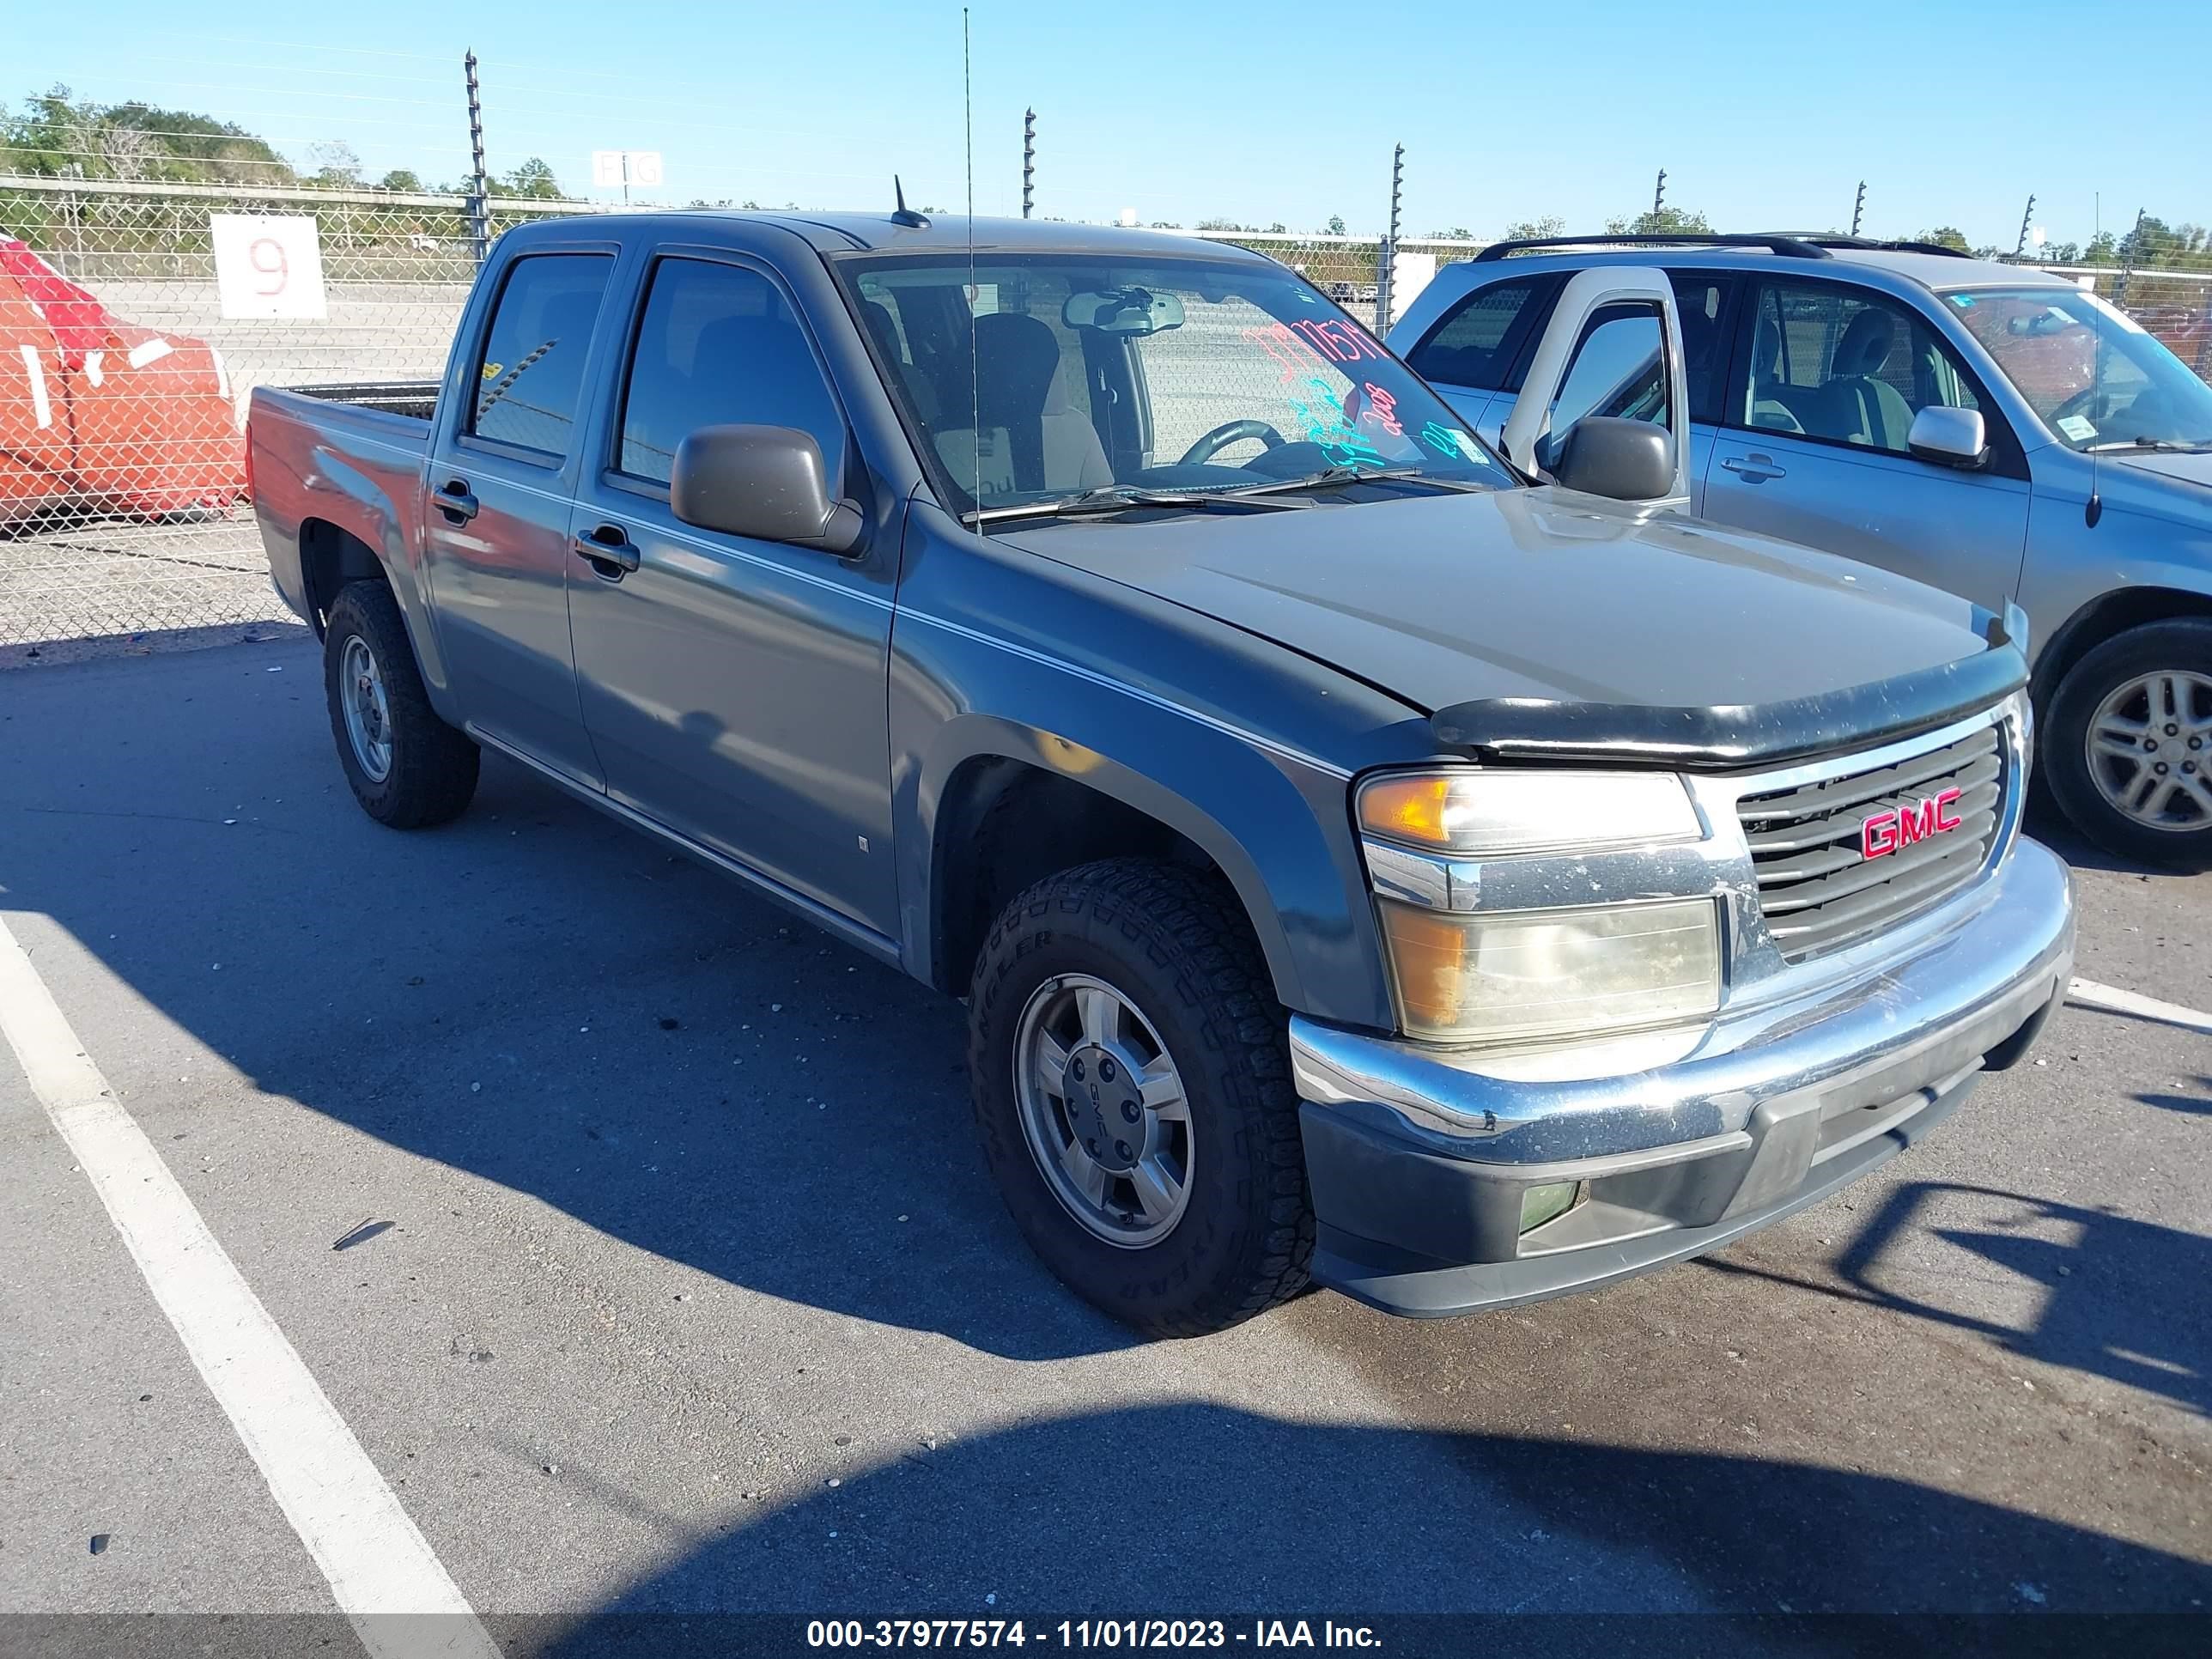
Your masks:
[{"label": "grey slatted grille with red GMC letters", "polygon": [[[1783,958],[1834,951],[1955,894],[1989,860],[2004,803],[2002,728],[1896,765],[1747,794],[1736,803],[1752,843],[1759,909]],[[1913,807],[1958,790],[1958,830],[1867,858],[1860,843],[1876,812]]]}]

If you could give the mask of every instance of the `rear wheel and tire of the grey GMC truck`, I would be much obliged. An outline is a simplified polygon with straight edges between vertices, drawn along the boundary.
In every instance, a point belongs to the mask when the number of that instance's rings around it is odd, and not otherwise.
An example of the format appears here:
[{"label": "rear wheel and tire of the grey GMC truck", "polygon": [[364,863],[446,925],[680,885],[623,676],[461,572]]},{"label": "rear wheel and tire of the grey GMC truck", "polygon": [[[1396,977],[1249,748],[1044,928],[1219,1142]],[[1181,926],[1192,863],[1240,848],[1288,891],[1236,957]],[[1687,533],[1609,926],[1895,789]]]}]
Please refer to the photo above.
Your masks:
[{"label": "rear wheel and tire of the grey GMC truck", "polygon": [[[345,781],[376,823],[425,830],[467,810],[476,794],[476,743],[431,710],[400,606],[383,582],[349,582],[330,606],[323,695]],[[363,699],[376,703],[374,717]]]}]

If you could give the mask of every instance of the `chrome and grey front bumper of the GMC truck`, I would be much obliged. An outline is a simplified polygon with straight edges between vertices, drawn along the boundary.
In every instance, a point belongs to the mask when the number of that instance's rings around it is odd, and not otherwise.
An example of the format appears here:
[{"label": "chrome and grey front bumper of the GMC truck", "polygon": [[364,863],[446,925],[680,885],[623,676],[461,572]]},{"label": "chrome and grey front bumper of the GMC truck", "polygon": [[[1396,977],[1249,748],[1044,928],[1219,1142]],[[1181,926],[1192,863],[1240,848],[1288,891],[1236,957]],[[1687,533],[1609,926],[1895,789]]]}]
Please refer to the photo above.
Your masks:
[{"label": "chrome and grey front bumper of the GMC truck", "polygon": [[[1394,1314],[1509,1307],[1717,1250],[1856,1181],[2015,1064],[2066,995],[2066,865],[2022,838],[1975,900],[1905,962],[1723,1011],[1690,1053],[1626,1075],[1528,1082],[1294,1018],[1314,1279]],[[1575,1206],[1522,1232],[1524,1194],[1559,1183]]]}]

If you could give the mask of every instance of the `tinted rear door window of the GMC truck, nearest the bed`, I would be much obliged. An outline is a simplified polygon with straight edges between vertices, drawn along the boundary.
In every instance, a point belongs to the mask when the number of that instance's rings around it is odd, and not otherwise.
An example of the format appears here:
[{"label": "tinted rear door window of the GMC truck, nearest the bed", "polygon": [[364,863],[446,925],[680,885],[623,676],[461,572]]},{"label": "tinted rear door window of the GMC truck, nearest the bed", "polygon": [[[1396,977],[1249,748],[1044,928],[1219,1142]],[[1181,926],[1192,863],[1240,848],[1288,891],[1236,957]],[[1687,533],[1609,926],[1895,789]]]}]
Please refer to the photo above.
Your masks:
[{"label": "tinted rear door window of the GMC truck, nearest the bed", "polygon": [[568,453],[591,327],[613,268],[606,254],[531,254],[509,265],[476,361],[469,431]]}]

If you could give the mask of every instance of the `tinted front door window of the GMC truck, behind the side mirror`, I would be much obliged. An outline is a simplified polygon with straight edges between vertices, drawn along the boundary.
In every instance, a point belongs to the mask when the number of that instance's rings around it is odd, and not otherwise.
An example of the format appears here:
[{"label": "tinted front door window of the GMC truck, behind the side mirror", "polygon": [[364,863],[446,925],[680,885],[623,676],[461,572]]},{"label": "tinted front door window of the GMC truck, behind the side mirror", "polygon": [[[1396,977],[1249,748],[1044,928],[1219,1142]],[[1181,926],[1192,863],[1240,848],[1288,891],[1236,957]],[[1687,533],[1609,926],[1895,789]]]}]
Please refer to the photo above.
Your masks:
[{"label": "tinted front door window of the GMC truck, behind the side mirror", "polygon": [[830,493],[838,493],[845,416],[783,290],[741,265],[664,259],[637,325],[615,465],[666,484],[677,445],[721,425],[812,434]]}]

